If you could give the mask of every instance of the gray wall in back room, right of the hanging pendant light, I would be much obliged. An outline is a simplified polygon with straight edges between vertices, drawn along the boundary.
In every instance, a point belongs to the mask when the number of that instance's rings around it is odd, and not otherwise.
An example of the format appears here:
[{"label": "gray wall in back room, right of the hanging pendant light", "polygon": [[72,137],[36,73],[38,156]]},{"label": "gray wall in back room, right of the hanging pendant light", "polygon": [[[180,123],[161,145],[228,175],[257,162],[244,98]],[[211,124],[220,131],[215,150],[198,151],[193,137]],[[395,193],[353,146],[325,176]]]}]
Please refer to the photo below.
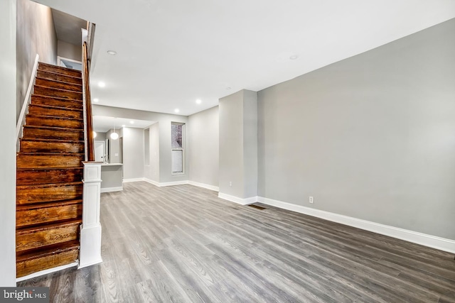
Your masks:
[{"label": "gray wall in back room, right of the hanging pendant light", "polygon": [[123,129],[123,177],[136,179],[144,177],[144,130]]}]

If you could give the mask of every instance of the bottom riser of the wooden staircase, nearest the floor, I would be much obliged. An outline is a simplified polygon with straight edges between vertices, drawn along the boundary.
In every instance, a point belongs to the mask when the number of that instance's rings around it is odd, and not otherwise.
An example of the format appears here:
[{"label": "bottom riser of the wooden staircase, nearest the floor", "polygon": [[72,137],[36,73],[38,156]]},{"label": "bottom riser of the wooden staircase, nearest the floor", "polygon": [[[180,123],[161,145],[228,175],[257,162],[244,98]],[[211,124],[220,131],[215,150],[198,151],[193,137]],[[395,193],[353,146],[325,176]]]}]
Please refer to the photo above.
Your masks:
[{"label": "bottom riser of the wooden staircase, nearest the floor", "polygon": [[54,253],[43,258],[33,258],[31,260],[18,261],[16,264],[17,277],[24,277],[33,272],[56,268],[58,266],[75,263],[79,258],[79,249],[75,248],[62,253]]}]

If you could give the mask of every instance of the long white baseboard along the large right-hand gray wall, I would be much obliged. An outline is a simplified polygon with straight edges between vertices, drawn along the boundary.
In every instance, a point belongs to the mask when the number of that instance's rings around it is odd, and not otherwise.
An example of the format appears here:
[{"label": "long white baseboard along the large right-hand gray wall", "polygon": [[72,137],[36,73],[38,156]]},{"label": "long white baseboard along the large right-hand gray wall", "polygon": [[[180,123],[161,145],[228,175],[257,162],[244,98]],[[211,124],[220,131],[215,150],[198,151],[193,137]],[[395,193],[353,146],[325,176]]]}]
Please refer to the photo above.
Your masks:
[{"label": "long white baseboard along the large right-hand gray wall", "polygon": [[451,239],[431,236],[425,233],[418,233],[417,231],[410,231],[407,229],[397,228],[394,226],[387,226],[384,224],[378,224],[375,222],[357,219],[350,216],[334,214],[329,211],[312,209],[306,206],[300,206],[264,197],[258,197],[258,201],[263,204],[279,207],[281,209],[296,211],[300,214],[307,214],[309,216],[316,216],[317,218],[333,221],[340,224],[345,224],[348,226],[353,226],[356,228],[364,229],[365,231],[373,231],[373,233],[380,233],[381,235],[390,236],[392,238],[397,238],[400,240],[417,243],[423,246],[444,250],[449,253],[455,253],[455,241]]}]

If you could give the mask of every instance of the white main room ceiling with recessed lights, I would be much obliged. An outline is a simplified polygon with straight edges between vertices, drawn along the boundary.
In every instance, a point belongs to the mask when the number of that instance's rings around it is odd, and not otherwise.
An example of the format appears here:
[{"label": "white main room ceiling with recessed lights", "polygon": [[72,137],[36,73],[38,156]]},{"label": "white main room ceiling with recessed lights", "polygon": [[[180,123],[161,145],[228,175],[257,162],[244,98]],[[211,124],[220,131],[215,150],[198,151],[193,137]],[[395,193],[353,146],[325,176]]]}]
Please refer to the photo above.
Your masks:
[{"label": "white main room ceiling with recessed lights", "polygon": [[96,23],[98,104],[182,115],[455,17],[454,0],[38,2]]}]

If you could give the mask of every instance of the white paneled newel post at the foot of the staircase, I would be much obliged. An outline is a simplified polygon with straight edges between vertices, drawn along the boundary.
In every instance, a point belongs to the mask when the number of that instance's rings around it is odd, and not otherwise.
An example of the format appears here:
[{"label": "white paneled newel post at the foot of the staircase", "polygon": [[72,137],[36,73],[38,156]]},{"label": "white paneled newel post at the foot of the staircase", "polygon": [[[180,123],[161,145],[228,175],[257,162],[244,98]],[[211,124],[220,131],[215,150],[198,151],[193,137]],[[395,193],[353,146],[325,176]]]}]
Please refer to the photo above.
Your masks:
[{"label": "white paneled newel post at the foot of the staircase", "polygon": [[79,268],[101,263],[101,163],[84,162]]}]

